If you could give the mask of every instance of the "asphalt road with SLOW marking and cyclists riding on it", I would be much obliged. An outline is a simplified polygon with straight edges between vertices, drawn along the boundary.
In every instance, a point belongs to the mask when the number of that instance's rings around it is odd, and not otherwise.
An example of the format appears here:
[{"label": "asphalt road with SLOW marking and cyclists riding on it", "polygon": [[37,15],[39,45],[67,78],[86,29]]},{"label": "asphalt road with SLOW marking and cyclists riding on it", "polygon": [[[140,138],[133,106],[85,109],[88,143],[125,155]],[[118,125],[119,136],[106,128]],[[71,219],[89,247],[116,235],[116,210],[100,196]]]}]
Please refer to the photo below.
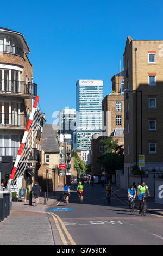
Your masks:
[{"label": "asphalt road with SLOW marking and cyclists riding on it", "polygon": [[73,184],[67,208],[59,201],[46,212],[56,245],[163,245],[163,216],[131,213],[114,196],[108,205],[99,184],[85,184],[83,203]]}]

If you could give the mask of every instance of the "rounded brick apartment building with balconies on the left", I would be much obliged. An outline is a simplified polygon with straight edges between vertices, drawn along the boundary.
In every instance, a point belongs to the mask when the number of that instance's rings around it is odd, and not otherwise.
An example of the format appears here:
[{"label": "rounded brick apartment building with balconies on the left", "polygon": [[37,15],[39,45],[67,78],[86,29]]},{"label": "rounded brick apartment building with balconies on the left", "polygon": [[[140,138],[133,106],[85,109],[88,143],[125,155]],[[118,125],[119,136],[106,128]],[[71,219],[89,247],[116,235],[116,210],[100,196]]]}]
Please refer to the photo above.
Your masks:
[{"label": "rounded brick apartment building with balconies on the left", "polygon": [[[27,54],[29,46],[24,35],[0,27],[0,155],[13,156],[15,162],[18,149],[26,130],[33,100],[37,96],[37,84],[33,83],[33,65]],[[41,161],[42,126],[37,132],[28,166],[34,167],[37,179]],[[32,172],[25,173],[22,186],[33,182]],[[2,178],[9,179],[9,175]]]}]

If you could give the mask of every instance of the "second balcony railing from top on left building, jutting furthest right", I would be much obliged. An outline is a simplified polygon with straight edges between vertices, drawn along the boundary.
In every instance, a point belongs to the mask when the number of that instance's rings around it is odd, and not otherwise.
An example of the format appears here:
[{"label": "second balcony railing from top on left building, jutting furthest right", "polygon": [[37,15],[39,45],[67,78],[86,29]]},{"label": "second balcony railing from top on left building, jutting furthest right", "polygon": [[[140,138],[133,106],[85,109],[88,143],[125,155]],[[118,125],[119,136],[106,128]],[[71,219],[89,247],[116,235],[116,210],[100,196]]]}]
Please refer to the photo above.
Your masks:
[{"label": "second balcony railing from top on left building, jutting furthest right", "polygon": [[37,84],[0,78],[0,93],[1,92],[37,96]]}]

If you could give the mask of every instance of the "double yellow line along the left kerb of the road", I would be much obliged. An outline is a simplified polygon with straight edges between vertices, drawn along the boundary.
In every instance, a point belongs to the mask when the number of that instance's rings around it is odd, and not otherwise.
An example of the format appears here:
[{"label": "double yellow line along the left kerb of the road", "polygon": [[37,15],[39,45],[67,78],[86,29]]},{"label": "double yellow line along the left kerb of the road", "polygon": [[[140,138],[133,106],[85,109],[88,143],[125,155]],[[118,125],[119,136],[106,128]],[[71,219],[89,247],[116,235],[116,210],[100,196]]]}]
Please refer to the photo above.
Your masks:
[{"label": "double yellow line along the left kerb of the road", "polygon": [[[62,222],[61,218],[60,218],[57,214],[53,214],[53,213],[52,213],[52,214],[51,214],[51,213],[48,213],[48,214],[50,214],[50,215],[53,217],[53,219],[54,219],[55,225],[56,225],[56,227],[57,227],[57,229],[58,229],[58,232],[59,232],[59,235],[60,235],[60,238],[61,238],[61,240],[62,240],[63,245],[70,245],[70,243],[71,243],[71,245],[76,245],[76,243],[75,243],[74,240],[72,239],[72,236],[71,236],[70,233],[68,232],[68,230],[67,230],[67,228],[66,228],[64,222]],[[67,236],[67,239],[68,239],[70,242],[67,242],[66,237],[65,237],[64,233],[62,232],[59,223],[60,223],[60,225],[61,225],[61,227],[62,227],[62,230],[64,230],[64,232],[65,232],[65,234],[66,234],[66,236]]]}]

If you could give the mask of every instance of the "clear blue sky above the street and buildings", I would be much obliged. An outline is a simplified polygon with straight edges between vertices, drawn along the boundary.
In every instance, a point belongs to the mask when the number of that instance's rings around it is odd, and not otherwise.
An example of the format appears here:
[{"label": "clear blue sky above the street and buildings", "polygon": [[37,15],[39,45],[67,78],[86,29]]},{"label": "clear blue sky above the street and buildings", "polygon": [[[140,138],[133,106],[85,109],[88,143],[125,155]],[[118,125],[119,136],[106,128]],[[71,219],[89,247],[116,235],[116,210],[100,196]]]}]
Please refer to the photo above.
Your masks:
[{"label": "clear blue sky above the street and buildings", "polygon": [[32,53],[34,82],[42,112],[76,108],[76,81],[111,77],[123,67],[127,36],[163,39],[163,1],[28,0],[2,1],[0,26],[22,33]]}]

